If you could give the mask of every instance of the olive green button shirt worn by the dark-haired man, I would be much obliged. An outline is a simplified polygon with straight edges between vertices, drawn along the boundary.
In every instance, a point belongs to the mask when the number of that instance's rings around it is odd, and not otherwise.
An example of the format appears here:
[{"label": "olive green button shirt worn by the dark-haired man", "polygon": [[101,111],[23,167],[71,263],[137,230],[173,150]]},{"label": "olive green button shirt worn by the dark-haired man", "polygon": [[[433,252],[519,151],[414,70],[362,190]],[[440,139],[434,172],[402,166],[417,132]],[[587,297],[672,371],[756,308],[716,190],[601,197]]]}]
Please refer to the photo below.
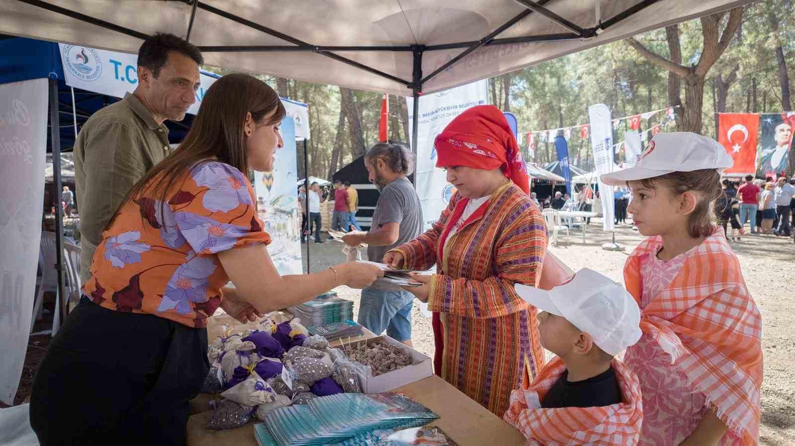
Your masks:
[{"label": "olive green button shirt worn by the dark-haired man", "polygon": [[127,93],[94,113],[75,141],[75,183],[80,213],[80,279],[85,283],[103,229],[127,192],[169,155],[169,129]]}]

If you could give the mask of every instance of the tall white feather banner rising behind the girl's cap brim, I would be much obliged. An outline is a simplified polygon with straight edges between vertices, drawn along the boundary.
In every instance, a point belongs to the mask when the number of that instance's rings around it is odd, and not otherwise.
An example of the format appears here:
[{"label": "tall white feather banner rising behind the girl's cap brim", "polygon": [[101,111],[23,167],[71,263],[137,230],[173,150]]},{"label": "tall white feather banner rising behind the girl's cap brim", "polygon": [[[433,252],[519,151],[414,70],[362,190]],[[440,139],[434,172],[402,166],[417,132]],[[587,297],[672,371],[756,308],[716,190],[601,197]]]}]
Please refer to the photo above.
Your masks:
[{"label": "tall white feather banner rising behind the girl's cap brim", "polygon": [[602,183],[602,175],[610,173],[615,167],[615,163],[613,163],[613,125],[610,118],[610,109],[606,105],[596,104],[588,107],[588,120],[591,123],[591,148],[594,152],[596,178],[599,181],[599,197],[602,198],[602,229],[605,231],[612,231],[615,228],[613,186]]}]

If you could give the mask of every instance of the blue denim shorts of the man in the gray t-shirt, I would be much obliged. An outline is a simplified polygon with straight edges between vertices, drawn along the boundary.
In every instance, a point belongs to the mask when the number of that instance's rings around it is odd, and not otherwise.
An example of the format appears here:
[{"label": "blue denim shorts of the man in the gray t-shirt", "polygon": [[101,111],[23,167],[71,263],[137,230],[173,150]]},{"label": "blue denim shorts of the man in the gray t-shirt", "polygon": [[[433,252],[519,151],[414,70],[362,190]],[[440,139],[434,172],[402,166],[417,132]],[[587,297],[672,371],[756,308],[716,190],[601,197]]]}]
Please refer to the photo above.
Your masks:
[{"label": "blue denim shorts of the man in the gray t-shirt", "polygon": [[385,291],[371,286],[362,290],[359,324],[376,335],[384,333],[395,340],[411,339],[411,307],[414,294],[408,291]]}]

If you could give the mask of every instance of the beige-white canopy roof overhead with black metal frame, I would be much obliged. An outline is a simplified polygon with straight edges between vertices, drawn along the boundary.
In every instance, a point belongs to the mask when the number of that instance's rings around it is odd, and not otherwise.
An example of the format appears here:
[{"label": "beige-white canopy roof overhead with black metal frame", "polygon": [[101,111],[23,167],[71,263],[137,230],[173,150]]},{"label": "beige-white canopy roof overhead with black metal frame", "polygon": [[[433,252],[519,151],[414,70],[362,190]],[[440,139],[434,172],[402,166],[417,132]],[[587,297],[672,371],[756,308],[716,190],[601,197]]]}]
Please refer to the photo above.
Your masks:
[{"label": "beige-white canopy roof overhead with black metal frame", "polygon": [[[5,0],[0,32],[122,52],[137,52],[156,32],[188,34],[216,67],[408,96],[746,3]],[[190,33],[194,28],[201,32]]]}]

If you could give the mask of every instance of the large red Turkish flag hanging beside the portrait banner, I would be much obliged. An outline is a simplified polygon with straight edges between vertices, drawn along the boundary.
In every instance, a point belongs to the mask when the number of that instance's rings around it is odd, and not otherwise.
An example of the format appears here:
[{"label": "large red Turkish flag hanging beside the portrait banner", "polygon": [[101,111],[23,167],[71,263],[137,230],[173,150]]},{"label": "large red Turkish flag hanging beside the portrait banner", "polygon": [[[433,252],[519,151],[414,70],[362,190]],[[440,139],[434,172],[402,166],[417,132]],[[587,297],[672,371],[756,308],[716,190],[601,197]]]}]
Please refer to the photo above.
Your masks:
[{"label": "large red Turkish flag hanging beside the portrait banner", "polygon": [[759,115],[720,113],[718,116],[718,142],[735,160],[735,165],[724,172],[753,175],[756,172]]}]

